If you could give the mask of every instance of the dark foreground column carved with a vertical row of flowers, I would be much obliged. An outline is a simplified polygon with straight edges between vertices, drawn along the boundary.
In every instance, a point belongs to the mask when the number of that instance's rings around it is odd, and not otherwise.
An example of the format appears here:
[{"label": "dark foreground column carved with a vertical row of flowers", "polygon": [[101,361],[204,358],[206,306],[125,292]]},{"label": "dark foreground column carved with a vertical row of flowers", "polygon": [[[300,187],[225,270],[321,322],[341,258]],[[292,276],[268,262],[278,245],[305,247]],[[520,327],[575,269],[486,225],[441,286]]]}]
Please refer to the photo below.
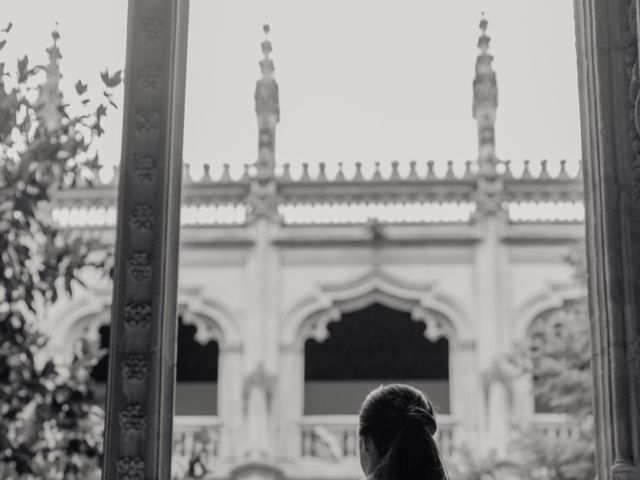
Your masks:
[{"label": "dark foreground column carved with a vertical row of flowers", "polygon": [[186,0],[131,0],[103,479],[168,480]]}]

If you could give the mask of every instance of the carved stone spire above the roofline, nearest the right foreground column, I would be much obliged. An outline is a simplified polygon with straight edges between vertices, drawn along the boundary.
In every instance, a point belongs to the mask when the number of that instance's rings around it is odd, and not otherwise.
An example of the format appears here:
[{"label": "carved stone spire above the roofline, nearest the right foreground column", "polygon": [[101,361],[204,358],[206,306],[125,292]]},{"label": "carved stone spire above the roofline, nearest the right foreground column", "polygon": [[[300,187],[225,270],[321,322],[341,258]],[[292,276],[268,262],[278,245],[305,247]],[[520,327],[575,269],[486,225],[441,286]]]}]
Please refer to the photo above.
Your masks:
[{"label": "carved stone spire above the roofline, nearest the right foreground column", "polygon": [[473,118],[478,122],[478,165],[480,174],[493,175],[497,163],[495,155],[495,122],[498,107],[498,86],[496,72],[489,53],[491,37],[487,35],[487,19],[482,13],[481,34],[478,38],[478,58],[476,76],[473,79]]}]

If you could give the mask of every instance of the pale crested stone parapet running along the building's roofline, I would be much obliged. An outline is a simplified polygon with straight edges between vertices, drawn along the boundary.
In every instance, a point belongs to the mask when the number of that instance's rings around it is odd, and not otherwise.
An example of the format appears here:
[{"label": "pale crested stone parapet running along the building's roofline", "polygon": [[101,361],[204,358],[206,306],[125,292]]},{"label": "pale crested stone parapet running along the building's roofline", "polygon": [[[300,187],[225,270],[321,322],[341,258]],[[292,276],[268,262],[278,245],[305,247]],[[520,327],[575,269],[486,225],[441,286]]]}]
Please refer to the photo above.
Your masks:
[{"label": "pale crested stone parapet running along the building's roofline", "polygon": [[[284,224],[362,224],[371,219],[381,223],[468,223],[476,210],[479,189],[477,166],[466,162],[463,172],[455,172],[453,162],[436,173],[433,161],[409,162],[402,169],[392,162],[390,170],[381,173],[378,163],[372,172],[363,173],[362,165],[346,174],[340,165],[327,174],[320,163],[310,171],[303,164],[293,176],[288,164],[278,166],[274,183],[268,187],[255,184],[252,167],[243,175],[232,177],[229,166],[212,177],[208,165],[194,179],[185,165],[183,174],[182,224],[184,226],[244,225],[252,210],[275,209]],[[581,172],[570,175],[566,162],[551,175],[547,162],[541,161],[536,174],[529,162],[514,175],[509,162],[503,162],[497,183],[491,191],[514,222],[581,222]],[[57,192],[53,213],[65,227],[113,228],[117,175],[108,183],[97,181],[93,187],[77,186]],[[338,213],[336,213],[338,212]]]}]

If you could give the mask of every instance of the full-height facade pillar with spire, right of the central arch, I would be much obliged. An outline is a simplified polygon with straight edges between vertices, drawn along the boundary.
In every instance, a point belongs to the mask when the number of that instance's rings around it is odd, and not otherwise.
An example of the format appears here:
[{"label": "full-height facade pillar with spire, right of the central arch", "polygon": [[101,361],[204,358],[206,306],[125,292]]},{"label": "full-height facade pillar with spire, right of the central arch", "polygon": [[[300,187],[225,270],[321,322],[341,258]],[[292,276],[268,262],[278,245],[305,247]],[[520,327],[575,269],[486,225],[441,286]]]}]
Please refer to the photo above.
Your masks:
[{"label": "full-height facade pillar with spire, right of the central arch", "polygon": [[475,193],[474,222],[482,231],[482,241],[475,251],[476,324],[478,327],[478,370],[482,375],[483,395],[478,402],[481,453],[504,455],[508,444],[508,389],[494,379],[495,363],[508,348],[505,342],[506,315],[504,292],[506,252],[502,243],[504,225],[508,222],[504,210],[504,181],[496,168],[495,121],[498,108],[498,85],[493,70],[493,55],[489,53],[491,38],[488,22],[480,20],[476,75],[473,80],[473,118],[478,126],[478,174]]}]

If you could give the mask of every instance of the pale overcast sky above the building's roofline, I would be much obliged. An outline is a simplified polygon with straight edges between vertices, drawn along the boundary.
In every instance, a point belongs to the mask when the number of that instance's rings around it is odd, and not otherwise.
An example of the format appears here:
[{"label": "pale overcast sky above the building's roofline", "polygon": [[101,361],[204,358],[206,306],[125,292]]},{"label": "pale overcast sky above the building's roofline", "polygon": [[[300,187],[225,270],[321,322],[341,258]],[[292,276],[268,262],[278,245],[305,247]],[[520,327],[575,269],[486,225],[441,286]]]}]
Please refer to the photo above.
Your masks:
[{"label": "pale overcast sky above the building's roofline", "polygon": [[[99,91],[100,70],[124,67],[126,4],[5,0],[14,28],[0,61],[15,65],[24,53],[44,61],[58,29],[68,95],[78,78]],[[255,161],[265,15],[280,85],[278,162],[475,159],[471,82],[482,11],[498,75],[498,156],[575,162],[570,0],[192,0],[185,161],[196,175],[204,162],[215,171]],[[120,110],[106,124],[107,165],[120,156],[121,120]]]}]

